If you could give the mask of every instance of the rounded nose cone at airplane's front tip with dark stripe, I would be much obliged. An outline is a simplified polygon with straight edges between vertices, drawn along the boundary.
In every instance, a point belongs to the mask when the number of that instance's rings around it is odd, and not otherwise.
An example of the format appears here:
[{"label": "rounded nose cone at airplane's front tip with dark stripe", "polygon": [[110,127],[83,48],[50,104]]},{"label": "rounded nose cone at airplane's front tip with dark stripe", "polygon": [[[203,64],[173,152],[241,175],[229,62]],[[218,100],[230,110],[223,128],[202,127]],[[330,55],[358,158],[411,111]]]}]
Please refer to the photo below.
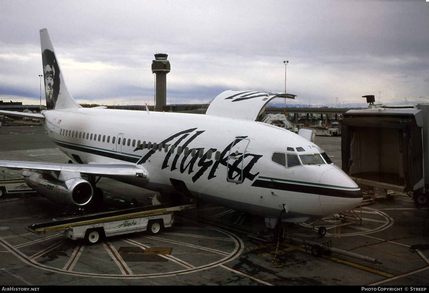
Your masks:
[{"label": "rounded nose cone at airplane's front tip with dark stripe", "polygon": [[345,212],[362,202],[359,186],[336,166],[322,173],[320,185],[327,188],[325,195],[319,197],[320,206],[326,215]]}]

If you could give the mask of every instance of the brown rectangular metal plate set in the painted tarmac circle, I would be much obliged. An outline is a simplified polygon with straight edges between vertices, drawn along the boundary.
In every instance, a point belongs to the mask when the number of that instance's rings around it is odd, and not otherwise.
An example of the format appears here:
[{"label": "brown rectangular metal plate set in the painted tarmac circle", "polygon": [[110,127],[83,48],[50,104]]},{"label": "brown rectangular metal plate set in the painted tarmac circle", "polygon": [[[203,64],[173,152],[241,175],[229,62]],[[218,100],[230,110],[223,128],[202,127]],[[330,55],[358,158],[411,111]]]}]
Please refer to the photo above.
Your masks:
[{"label": "brown rectangular metal plate set in the painted tarmac circle", "polygon": [[121,247],[118,253],[125,261],[156,261],[156,262],[167,262],[168,259],[162,257],[162,255],[169,255],[173,248],[169,247]]}]

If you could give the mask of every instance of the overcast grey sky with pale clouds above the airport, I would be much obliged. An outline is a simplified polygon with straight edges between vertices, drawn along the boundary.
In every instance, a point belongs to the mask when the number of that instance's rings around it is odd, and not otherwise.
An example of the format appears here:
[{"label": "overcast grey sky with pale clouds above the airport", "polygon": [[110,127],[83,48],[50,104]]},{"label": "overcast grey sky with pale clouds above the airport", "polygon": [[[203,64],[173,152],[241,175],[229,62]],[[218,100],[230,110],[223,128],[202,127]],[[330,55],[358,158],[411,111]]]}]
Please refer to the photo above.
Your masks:
[{"label": "overcast grey sky with pale clouds above the airport", "polygon": [[[429,2],[0,0],[0,98],[39,105],[47,28],[79,103],[154,103],[151,63],[168,54],[167,104],[224,90],[287,105],[429,102]],[[43,82],[43,81],[42,81]],[[381,93],[380,93],[381,92]],[[42,93],[42,104],[45,104]],[[276,101],[274,101],[276,102]],[[283,105],[283,100],[277,101]]]}]

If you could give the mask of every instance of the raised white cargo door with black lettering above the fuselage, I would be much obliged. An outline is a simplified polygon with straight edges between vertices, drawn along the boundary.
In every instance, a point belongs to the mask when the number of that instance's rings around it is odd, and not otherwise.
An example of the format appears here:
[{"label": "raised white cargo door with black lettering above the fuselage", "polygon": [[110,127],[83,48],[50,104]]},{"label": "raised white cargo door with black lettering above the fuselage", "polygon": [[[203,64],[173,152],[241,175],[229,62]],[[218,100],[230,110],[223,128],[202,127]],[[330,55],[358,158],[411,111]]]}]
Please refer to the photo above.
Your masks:
[{"label": "raised white cargo door with black lettering above the fuselage", "polygon": [[265,105],[274,98],[295,99],[296,95],[256,90],[227,90],[219,94],[206,115],[256,120],[265,110]]}]

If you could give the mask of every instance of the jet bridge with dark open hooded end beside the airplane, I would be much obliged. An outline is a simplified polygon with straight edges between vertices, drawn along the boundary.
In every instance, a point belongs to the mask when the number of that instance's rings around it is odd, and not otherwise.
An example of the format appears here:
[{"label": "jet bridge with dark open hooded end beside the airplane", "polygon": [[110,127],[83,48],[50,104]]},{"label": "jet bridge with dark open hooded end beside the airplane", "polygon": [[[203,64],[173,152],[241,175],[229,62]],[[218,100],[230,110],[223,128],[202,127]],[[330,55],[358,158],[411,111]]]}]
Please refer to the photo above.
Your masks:
[{"label": "jet bridge with dark open hooded end beside the airplane", "polygon": [[343,116],[342,170],[373,199],[391,190],[426,202],[429,104],[370,107]]}]

